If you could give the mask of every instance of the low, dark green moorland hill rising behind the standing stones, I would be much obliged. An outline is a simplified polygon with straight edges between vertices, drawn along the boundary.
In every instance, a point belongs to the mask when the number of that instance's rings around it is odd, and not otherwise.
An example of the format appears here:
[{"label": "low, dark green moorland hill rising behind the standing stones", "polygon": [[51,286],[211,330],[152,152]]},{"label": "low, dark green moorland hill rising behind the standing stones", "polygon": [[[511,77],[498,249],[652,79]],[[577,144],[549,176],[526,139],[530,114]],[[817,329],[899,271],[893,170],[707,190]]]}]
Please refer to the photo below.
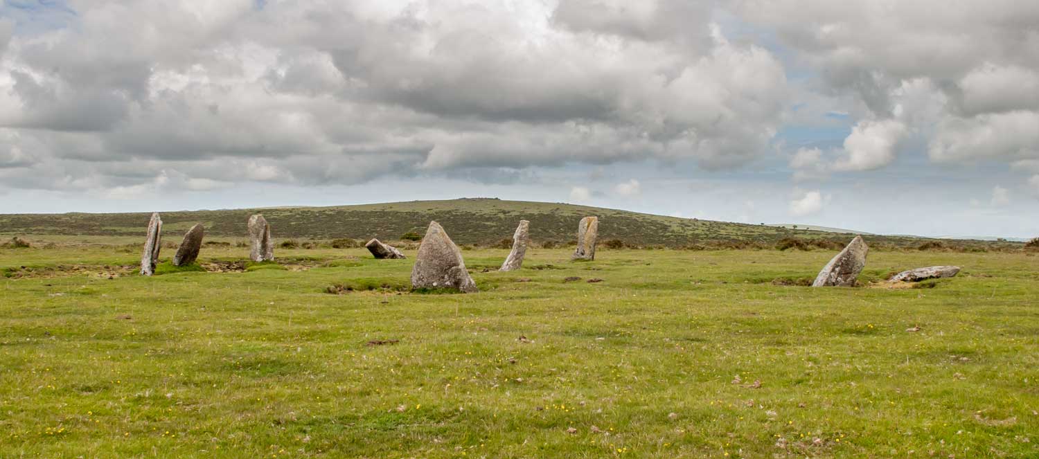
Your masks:
[{"label": "low, dark green moorland hill rising behind the standing stones", "polygon": [[[566,243],[575,239],[578,221],[587,215],[600,217],[600,240],[619,239],[636,246],[725,245],[756,243],[773,245],[797,237],[847,242],[848,235],[789,230],[763,224],[726,223],[636,212],[553,203],[528,203],[496,198],[416,200],[339,207],[298,207],[216,211],[162,212],[166,235],[178,235],[202,222],[208,236],[240,237],[246,220],[262,213],[275,239],[368,239],[397,240],[409,232],[424,234],[430,220],[438,221],[461,244],[496,243],[512,237],[521,219],[530,220],[531,239]],[[150,214],[8,214],[0,215],[3,235],[141,236]],[[179,235],[178,235],[179,236]],[[178,236],[174,236],[177,238]],[[922,239],[871,237],[871,242],[910,246]]]}]

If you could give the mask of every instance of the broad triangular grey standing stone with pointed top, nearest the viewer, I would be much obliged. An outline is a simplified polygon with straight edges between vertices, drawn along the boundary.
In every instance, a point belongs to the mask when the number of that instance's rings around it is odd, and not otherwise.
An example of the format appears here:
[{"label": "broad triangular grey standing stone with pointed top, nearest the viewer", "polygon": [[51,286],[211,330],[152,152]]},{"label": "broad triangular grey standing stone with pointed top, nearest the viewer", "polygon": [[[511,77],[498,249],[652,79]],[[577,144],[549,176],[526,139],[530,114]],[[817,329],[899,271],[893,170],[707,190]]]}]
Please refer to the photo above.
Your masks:
[{"label": "broad triangular grey standing stone with pointed top, nearest the viewer", "polygon": [[465,270],[461,250],[439,223],[429,222],[426,236],[419,245],[419,254],[411,268],[412,289],[457,289],[464,293],[478,292],[476,282]]}]

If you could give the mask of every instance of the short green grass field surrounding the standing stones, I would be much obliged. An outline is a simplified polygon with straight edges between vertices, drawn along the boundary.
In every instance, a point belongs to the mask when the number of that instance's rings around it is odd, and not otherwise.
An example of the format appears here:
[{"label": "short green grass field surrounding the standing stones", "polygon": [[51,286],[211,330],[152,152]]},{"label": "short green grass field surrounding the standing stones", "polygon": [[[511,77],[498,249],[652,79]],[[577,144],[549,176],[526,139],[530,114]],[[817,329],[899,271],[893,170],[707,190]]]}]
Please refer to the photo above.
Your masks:
[{"label": "short green grass field surrounding the standing stones", "polygon": [[1039,457],[1029,253],[810,289],[833,252],[467,250],[472,295],[407,292],[405,253],[0,249],[0,457]]}]

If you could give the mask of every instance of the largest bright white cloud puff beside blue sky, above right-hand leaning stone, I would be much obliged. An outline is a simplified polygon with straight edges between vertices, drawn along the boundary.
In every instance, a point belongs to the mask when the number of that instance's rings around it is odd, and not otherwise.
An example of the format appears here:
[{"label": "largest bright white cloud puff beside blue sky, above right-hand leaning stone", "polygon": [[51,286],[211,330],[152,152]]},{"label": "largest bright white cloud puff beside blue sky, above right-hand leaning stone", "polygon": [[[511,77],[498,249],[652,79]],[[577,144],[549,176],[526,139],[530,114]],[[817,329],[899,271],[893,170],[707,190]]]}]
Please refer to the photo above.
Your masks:
[{"label": "largest bright white cloud puff beside blue sky, above right-hand leaning stone", "polygon": [[871,170],[895,160],[896,148],[907,134],[905,125],[895,119],[861,120],[845,139],[848,157],[833,165],[837,170]]}]

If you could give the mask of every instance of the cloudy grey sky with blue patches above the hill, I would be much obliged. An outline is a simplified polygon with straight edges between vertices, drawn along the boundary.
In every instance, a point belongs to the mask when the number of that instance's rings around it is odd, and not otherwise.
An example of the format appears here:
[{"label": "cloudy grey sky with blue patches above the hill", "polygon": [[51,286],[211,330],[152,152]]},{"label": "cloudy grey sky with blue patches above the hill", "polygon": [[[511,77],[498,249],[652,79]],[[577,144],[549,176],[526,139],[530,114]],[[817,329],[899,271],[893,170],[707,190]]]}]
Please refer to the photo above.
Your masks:
[{"label": "cloudy grey sky with blue patches above the hill", "polygon": [[0,213],[456,197],[1039,236],[1039,2],[0,0]]}]

